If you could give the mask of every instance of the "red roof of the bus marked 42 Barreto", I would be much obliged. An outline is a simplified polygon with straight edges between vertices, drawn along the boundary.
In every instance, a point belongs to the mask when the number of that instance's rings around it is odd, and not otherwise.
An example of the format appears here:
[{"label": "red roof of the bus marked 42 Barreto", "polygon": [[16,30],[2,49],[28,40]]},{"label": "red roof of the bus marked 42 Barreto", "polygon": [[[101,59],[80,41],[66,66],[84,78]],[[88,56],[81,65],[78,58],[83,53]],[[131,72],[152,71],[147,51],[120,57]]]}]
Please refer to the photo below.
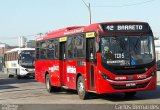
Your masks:
[{"label": "red roof of the bus marked 42 Barreto", "polygon": [[95,24],[90,24],[89,26],[72,26],[72,27],[66,27],[62,29],[58,29],[56,31],[52,31],[48,33],[47,35],[37,38],[36,41],[42,41],[50,38],[58,38],[58,37],[63,37],[63,36],[68,36],[72,34],[78,34],[82,32],[88,32],[88,31],[96,31],[100,30],[102,31],[102,28],[100,25],[103,24],[129,24],[129,23],[141,23],[141,24],[148,24],[146,22],[139,22],[139,21],[115,21],[115,22],[102,22],[102,23],[95,23]]}]

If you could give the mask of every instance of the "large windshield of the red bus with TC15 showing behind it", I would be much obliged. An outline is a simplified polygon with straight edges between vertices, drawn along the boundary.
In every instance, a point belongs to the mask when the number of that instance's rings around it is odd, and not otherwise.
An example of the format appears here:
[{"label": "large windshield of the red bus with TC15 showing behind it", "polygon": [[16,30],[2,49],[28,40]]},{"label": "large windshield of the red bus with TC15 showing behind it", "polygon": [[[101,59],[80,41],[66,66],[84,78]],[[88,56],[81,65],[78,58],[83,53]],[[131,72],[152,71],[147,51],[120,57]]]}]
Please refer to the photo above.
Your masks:
[{"label": "large windshield of the red bus with TC15 showing behind it", "polygon": [[113,66],[132,66],[154,60],[152,36],[115,36],[101,38],[102,62]]}]

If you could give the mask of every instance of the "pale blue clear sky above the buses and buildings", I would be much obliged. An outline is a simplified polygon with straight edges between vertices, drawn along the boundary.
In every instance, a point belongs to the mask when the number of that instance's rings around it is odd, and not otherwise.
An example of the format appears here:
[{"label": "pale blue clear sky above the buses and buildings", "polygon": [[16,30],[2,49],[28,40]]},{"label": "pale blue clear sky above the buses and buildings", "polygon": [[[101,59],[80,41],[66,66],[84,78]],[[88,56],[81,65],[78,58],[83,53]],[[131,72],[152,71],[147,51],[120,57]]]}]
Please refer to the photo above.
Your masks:
[{"label": "pale blue clear sky above the buses and buildings", "polygon": [[[92,23],[145,21],[160,36],[160,0],[84,0],[91,4]],[[0,0],[0,42],[18,45],[68,26],[89,25],[89,12],[82,0]]]}]

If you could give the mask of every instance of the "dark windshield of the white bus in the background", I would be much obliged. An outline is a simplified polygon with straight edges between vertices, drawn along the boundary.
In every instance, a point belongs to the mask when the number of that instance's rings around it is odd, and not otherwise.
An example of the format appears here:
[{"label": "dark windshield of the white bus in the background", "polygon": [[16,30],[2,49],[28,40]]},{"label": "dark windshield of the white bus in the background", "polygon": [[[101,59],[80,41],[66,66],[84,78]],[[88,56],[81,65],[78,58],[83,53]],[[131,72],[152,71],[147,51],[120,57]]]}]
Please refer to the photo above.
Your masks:
[{"label": "dark windshield of the white bus in the background", "polygon": [[21,66],[33,67],[34,66],[34,51],[22,51],[20,54],[19,62]]}]

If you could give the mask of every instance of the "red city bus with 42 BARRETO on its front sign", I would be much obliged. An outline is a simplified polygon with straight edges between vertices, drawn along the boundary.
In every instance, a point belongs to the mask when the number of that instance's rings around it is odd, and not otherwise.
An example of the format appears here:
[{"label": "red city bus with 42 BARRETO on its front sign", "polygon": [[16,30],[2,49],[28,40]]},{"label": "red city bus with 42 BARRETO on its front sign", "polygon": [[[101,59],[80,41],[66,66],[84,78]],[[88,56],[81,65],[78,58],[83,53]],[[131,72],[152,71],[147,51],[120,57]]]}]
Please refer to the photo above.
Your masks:
[{"label": "red city bus with 42 BARRETO on its front sign", "polygon": [[59,29],[36,42],[35,78],[48,92],[97,94],[156,89],[152,30],[146,22],[105,22]]}]

